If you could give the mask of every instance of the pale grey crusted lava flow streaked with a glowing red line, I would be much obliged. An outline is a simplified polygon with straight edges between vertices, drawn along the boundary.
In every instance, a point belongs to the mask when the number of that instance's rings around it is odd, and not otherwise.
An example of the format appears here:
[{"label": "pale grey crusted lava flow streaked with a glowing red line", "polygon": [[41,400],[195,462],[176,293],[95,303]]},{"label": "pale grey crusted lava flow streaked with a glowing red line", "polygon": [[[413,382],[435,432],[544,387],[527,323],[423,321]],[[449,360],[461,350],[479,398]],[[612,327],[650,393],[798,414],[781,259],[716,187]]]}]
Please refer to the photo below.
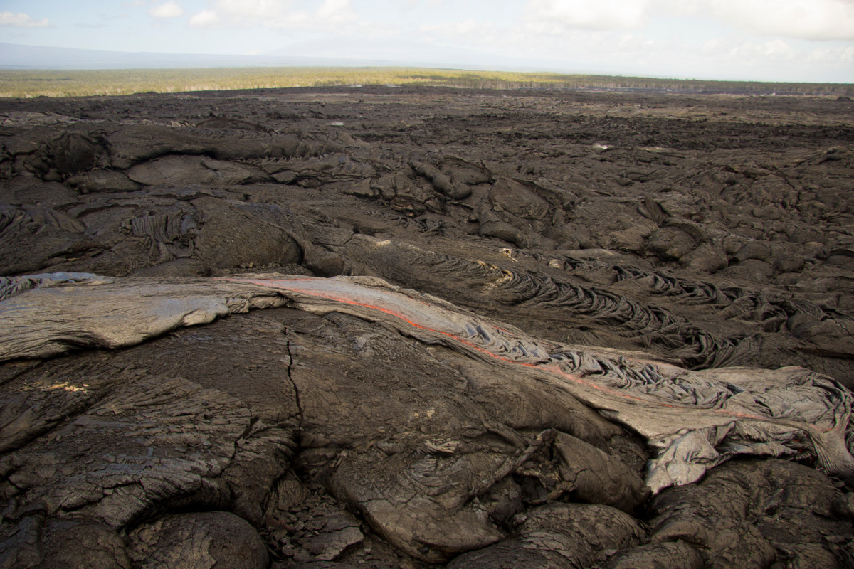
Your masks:
[{"label": "pale grey crusted lava flow streaked with a glowing red line", "polygon": [[231,313],[290,305],[377,322],[428,344],[561,386],[658,451],[654,492],[700,479],[735,455],[812,456],[849,478],[851,392],[803,368],[689,371],[616,351],[538,340],[442,299],[373,277],[110,278],[81,273],[0,282],[0,360],[137,344]]}]

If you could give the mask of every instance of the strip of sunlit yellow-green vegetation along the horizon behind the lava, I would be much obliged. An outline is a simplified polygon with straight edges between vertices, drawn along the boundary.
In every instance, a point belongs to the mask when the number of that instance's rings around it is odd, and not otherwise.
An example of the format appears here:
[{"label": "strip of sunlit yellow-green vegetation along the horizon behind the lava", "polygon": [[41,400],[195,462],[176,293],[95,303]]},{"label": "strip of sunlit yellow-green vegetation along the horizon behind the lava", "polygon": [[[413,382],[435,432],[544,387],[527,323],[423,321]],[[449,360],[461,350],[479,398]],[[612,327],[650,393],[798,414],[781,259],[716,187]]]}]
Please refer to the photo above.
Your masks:
[{"label": "strip of sunlit yellow-green vegetation along the horizon behind the lava", "polygon": [[672,90],[743,95],[854,95],[854,84],[758,83],[416,69],[406,67],[221,67],[100,71],[0,70],[0,97],[130,95],[155,91],[325,87],[330,85],[440,85],[471,89]]}]

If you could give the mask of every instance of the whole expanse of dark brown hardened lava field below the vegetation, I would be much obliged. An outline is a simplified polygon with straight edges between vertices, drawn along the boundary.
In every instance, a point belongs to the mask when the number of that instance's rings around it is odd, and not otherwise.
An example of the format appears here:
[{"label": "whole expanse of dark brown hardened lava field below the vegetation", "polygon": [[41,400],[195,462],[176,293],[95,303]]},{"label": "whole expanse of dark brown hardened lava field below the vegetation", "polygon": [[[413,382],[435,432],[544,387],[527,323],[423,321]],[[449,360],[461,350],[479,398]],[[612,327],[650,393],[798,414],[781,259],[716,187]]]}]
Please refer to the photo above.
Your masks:
[{"label": "whole expanse of dark brown hardened lava field below the vegetation", "polygon": [[0,102],[0,567],[851,563],[845,105],[356,91]]}]

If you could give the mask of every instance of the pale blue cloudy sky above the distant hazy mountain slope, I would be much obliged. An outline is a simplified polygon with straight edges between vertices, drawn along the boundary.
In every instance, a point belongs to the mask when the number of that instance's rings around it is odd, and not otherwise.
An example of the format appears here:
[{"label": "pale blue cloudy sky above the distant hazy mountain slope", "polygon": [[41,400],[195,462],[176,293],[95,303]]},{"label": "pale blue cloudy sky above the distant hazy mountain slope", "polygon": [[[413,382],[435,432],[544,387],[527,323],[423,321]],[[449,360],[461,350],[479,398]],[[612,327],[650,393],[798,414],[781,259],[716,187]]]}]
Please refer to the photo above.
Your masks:
[{"label": "pale blue cloudy sky above the distant hazy mountain slope", "polygon": [[854,0],[0,0],[0,42],[854,83]]}]

